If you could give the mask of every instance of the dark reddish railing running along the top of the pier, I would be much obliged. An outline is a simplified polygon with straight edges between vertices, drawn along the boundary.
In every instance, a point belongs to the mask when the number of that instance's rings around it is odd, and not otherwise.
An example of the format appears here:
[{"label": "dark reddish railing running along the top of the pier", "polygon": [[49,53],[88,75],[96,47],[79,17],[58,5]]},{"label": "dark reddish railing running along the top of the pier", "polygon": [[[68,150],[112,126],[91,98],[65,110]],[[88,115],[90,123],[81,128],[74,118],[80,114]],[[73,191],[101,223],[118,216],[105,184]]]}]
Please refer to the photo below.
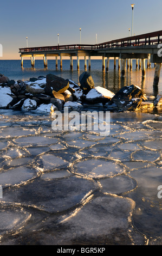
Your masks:
[{"label": "dark reddish railing running along the top of the pier", "polygon": [[147,34],[129,36],[127,38],[116,39],[112,41],[102,42],[101,44],[73,44],[73,45],[55,45],[41,47],[26,47],[20,48],[20,52],[43,52],[43,51],[58,51],[58,50],[96,50],[100,48],[128,47],[155,45],[162,42],[162,31],[156,31]]}]

